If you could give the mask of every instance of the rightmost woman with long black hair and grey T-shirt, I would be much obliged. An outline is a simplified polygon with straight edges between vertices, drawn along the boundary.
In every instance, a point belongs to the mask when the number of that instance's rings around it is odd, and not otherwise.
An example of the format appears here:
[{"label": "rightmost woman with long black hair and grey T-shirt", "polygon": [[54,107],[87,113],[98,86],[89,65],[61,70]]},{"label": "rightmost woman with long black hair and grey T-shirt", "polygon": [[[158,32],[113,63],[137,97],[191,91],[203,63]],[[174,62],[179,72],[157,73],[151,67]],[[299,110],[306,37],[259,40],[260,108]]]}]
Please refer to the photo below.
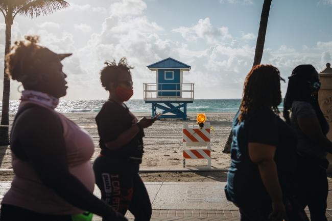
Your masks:
[{"label": "rightmost woman with long black hair and grey T-shirt", "polygon": [[332,142],[326,136],[329,126],[318,103],[320,86],[315,67],[299,65],[289,77],[283,102],[283,117],[298,137],[299,197],[303,208],[309,207],[312,221],[327,221],[326,154],[332,153]]}]

